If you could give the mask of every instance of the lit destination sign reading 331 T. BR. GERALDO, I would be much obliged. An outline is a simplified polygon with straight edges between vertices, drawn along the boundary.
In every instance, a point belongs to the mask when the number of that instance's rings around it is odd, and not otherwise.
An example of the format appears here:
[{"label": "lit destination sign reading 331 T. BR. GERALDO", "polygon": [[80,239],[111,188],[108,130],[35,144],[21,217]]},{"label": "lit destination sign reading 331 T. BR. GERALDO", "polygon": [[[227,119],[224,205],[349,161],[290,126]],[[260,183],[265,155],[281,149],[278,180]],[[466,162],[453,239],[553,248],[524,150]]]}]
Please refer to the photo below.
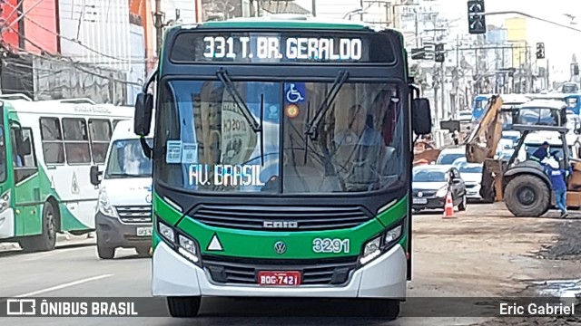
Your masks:
[{"label": "lit destination sign reading 331 T. BR. GERALDO", "polygon": [[[173,43],[172,62],[386,62],[393,51],[369,55],[373,34],[183,33]],[[377,37],[376,37],[377,39]],[[382,37],[384,46],[389,44]],[[376,41],[376,42],[374,42]]]}]

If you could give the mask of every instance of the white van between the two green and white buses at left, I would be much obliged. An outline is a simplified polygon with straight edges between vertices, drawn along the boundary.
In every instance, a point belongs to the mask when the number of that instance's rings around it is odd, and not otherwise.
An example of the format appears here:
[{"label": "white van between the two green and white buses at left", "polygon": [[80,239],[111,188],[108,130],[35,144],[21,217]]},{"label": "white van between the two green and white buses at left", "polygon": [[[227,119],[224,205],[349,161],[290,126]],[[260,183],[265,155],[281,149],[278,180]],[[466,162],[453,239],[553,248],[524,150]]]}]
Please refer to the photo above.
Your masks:
[{"label": "white van between the two green and white buses at left", "polygon": [[[153,138],[147,138],[153,147]],[[92,183],[99,186],[95,211],[97,252],[113,259],[115,249],[135,248],[149,256],[152,246],[152,168],[143,155],[140,139],[133,133],[133,120],[121,121],[105,159],[103,172],[93,168]]]}]

